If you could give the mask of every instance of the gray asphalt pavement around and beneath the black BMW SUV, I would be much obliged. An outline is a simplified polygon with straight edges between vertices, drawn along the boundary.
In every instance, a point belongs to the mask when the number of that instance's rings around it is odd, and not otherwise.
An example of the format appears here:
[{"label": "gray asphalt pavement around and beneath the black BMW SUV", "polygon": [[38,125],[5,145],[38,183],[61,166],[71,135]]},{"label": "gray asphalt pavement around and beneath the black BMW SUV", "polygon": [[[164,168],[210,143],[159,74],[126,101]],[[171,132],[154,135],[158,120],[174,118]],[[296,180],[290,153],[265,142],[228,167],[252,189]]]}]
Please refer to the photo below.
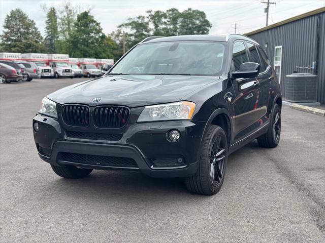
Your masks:
[{"label": "gray asphalt pavement around and beneath the black BMW SUV", "polygon": [[325,117],[283,106],[279,146],[232,154],[214,196],[138,172],[68,180],[37,155],[32,117],[81,80],[0,85],[0,242],[325,241]]}]

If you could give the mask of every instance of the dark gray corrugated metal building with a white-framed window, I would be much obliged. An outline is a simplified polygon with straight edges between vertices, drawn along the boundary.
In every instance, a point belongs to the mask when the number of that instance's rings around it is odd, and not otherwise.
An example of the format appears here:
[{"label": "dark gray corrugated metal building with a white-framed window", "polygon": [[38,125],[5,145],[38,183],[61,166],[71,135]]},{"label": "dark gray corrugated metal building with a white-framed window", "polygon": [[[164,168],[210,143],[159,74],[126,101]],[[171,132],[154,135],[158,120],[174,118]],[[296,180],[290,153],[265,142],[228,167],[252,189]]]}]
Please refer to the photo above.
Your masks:
[{"label": "dark gray corrugated metal building with a white-framed window", "polygon": [[285,76],[317,75],[317,102],[325,103],[325,8],[286,19],[245,35],[268,54],[285,96]]}]

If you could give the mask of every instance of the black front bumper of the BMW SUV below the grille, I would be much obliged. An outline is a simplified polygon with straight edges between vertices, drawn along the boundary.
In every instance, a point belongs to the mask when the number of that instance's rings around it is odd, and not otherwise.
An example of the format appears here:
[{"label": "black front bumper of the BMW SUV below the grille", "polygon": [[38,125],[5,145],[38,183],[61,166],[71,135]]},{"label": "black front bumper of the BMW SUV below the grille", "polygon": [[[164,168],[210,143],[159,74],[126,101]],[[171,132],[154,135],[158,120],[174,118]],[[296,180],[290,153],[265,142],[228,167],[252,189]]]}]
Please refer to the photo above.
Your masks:
[{"label": "black front bumper of the BMW SUV below the grille", "polygon": [[[57,119],[41,114],[34,117],[33,124],[35,122],[39,124],[39,130],[37,132],[34,130],[34,139],[39,155],[50,164],[74,165],[100,170],[137,170],[152,177],[187,177],[196,173],[199,147],[205,126],[202,121],[179,120],[134,123],[124,128],[123,131],[103,129],[95,131],[103,134],[123,132],[118,141],[107,141],[68,137],[67,131],[76,130],[76,128],[61,126]],[[169,142],[166,138],[166,134],[172,129],[181,132],[180,140],[174,143]],[[82,161],[62,159],[60,156],[62,153],[132,158],[137,166],[107,166],[101,164],[100,161],[88,164]],[[157,166],[154,162],[161,159],[164,161],[166,158],[182,158],[183,163],[165,167]]]}]

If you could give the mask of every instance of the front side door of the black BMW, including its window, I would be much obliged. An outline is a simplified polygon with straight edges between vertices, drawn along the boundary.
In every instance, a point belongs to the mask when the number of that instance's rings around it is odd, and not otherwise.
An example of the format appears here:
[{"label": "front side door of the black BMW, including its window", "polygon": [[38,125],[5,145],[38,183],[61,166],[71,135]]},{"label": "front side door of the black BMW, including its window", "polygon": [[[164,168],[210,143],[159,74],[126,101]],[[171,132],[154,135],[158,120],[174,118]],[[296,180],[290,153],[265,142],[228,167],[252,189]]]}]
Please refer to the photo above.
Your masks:
[{"label": "front side door of the black BMW, including its window", "polygon": [[[248,49],[244,41],[237,41],[233,45],[232,71],[238,70],[240,64],[244,62],[250,62]],[[255,77],[233,78],[232,84],[235,92],[233,101],[234,141],[238,142],[258,129],[258,120],[263,112],[258,107],[260,93]]]}]

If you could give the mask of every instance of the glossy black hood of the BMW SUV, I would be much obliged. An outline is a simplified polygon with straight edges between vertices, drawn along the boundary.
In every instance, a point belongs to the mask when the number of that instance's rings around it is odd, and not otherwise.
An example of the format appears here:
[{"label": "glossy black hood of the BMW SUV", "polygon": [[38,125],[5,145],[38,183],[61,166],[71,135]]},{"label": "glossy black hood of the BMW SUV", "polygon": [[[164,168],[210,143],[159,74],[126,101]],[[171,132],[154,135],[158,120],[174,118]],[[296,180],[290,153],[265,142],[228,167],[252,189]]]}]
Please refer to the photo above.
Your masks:
[{"label": "glossy black hood of the BMW SUV", "polygon": [[[102,76],[60,89],[47,97],[56,103],[126,105],[168,103],[215,82],[216,76],[116,75]],[[93,103],[93,98],[101,98]]]}]

